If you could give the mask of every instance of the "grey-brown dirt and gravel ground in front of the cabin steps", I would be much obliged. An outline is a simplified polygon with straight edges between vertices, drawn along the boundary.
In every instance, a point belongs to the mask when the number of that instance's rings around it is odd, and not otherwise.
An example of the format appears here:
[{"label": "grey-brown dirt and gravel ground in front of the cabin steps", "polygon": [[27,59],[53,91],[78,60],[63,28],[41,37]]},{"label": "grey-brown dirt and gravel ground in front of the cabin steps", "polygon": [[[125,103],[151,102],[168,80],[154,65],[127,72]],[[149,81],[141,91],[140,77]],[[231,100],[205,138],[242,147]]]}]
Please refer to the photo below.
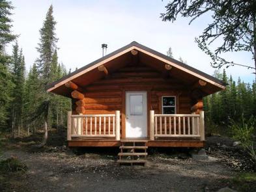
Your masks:
[{"label": "grey-brown dirt and gravel ground in front of the cabin steps", "polygon": [[195,161],[149,156],[142,166],[117,166],[115,156],[8,150],[28,171],[14,191],[217,191],[236,172],[218,159]]}]

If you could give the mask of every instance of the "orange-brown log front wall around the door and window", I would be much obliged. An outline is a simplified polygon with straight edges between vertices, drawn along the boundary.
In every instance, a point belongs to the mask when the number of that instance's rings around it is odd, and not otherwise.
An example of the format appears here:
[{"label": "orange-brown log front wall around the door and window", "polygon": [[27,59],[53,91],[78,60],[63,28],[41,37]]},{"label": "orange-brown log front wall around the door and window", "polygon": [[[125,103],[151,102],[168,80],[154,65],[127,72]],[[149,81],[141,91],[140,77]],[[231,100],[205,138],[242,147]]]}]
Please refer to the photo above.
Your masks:
[{"label": "orange-brown log front wall around the door and window", "polygon": [[[106,75],[104,79],[84,87],[83,90],[84,98],[72,102],[73,114],[81,111],[85,115],[114,114],[119,110],[121,121],[124,122],[125,92],[143,90],[147,91],[148,115],[150,110],[154,110],[155,114],[162,113],[162,96],[176,96],[177,113],[191,113],[192,101],[186,86],[171,75],[166,76],[166,73],[162,74],[143,64],[120,68]],[[85,110],[81,110],[81,107]],[[121,122],[121,130],[124,130],[124,126],[125,123]]]}]

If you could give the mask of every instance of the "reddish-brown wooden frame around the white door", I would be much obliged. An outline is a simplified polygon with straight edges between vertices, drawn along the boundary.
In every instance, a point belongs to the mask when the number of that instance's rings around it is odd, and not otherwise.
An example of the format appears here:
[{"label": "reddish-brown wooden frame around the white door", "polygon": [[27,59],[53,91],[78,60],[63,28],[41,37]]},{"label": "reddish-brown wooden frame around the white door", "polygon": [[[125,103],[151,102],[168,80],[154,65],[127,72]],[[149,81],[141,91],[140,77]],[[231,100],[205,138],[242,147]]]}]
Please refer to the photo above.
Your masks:
[{"label": "reddish-brown wooden frame around the white door", "polygon": [[146,92],[147,93],[147,138],[149,138],[149,110],[151,102],[151,89],[122,89],[122,111],[121,111],[121,139],[126,138],[126,92]]}]

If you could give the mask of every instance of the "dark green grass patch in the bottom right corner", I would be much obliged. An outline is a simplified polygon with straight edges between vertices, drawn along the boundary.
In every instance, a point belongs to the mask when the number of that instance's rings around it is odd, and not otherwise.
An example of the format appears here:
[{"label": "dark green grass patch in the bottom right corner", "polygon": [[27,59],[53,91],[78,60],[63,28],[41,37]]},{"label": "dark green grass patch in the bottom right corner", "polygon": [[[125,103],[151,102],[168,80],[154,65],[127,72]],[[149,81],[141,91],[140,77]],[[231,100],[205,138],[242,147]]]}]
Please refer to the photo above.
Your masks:
[{"label": "dark green grass patch in the bottom right corner", "polygon": [[256,191],[256,172],[242,172],[235,176],[231,183],[239,190],[245,192]]}]

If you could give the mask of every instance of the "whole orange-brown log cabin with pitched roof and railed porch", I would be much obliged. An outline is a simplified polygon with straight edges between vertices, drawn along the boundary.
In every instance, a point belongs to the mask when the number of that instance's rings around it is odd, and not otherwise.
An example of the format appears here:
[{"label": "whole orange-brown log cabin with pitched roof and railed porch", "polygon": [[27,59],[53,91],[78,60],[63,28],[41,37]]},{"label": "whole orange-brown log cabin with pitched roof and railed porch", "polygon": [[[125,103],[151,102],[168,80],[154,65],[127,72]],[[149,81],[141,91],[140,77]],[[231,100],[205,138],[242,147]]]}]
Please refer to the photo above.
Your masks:
[{"label": "whole orange-brown log cabin with pitched roof and railed porch", "polygon": [[225,84],[137,42],[48,85],[72,99],[68,146],[203,147],[203,97]]}]

